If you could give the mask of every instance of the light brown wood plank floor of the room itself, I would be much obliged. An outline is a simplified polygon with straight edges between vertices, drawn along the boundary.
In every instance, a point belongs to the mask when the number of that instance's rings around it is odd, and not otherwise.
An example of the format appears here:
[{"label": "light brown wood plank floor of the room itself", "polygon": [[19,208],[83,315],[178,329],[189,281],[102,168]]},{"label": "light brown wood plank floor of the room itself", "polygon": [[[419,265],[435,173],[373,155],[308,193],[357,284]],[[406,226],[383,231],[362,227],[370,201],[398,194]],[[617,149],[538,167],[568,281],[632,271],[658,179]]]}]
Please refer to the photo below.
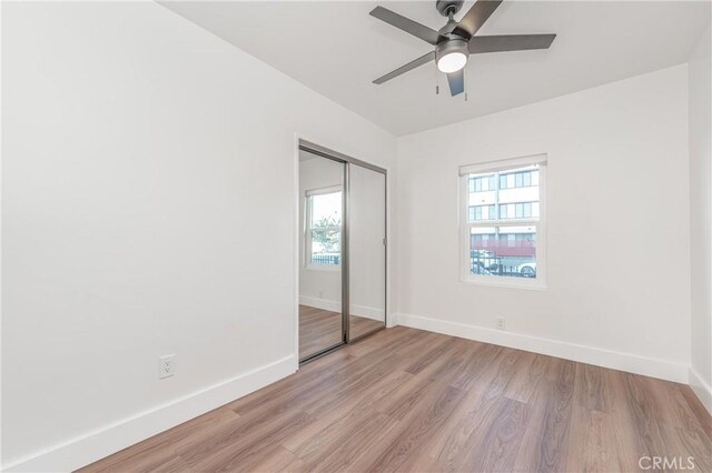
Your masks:
[{"label": "light brown wood plank floor of the room itself", "polygon": [[83,471],[710,472],[711,425],[682,384],[394,328]]}]

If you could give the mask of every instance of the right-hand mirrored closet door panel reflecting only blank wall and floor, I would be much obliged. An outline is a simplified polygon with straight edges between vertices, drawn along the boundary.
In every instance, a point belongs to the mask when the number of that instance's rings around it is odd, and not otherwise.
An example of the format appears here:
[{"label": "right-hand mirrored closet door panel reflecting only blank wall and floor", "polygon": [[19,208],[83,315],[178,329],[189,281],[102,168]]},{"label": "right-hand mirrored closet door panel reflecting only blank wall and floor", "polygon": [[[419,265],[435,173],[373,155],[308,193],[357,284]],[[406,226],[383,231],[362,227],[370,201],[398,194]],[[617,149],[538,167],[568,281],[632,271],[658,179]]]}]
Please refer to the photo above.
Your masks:
[{"label": "right-hand mirrored closet door panel reflecting only blank wall and floor", "polygon": [[386,177],[348,168],[349,340],[386,323]]}]

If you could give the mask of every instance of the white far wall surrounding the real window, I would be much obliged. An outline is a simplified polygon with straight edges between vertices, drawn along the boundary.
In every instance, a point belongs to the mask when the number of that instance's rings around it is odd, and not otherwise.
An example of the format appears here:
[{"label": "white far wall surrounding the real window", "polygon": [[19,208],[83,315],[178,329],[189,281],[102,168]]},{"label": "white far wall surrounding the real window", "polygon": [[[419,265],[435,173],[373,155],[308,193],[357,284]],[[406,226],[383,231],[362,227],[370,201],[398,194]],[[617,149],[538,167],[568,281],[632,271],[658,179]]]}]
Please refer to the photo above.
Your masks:
[{"label": "white far wall surrounding the real window", "polygon": [[[686,72],[398,139],[398,322],[686,382]],[[458,167],[536,153],[548,154],[547,289],[459,282]]]}]

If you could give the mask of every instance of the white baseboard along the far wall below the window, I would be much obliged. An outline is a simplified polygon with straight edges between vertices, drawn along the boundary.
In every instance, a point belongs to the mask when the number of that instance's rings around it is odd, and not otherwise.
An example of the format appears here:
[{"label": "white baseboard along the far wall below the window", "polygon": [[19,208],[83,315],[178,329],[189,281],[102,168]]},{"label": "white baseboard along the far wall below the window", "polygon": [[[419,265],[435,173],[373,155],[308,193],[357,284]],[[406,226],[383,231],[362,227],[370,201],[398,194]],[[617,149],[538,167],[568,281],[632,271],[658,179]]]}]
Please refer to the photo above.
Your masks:
[{"label": "white baseboard along the far wall below the window", "polygon": [[476,340],[493,343],[495,345],[541,353],[550,356],[563,358],[581,363],[595,364],[613,370],[643,374],[676,383],[688,383],[689,366],[683,363],[673,363],[665,360],[640,356],[632,353],[615,352],[595,346],[578,345],[558,340],[542,339],[521,333],[501,330],[485,329],[477,325],[468,325],[458,322],[449,322],[429,319],[419,315],[397,314],[399,325],[413,329],[427,330],[459,336],[462,339]]}]

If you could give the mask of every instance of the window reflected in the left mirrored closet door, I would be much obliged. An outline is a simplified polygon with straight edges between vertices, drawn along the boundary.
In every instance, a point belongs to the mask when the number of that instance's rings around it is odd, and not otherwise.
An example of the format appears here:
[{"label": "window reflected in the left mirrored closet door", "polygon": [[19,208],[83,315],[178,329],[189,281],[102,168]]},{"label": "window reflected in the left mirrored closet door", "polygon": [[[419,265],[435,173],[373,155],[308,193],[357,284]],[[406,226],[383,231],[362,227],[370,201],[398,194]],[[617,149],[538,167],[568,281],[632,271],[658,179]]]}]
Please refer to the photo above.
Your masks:
[{"label": "window reflected in the left mirrored closet door", "polygon": [[338,268],[342,263],[342,190],[307,191],[306,245],[309,268]]}]

